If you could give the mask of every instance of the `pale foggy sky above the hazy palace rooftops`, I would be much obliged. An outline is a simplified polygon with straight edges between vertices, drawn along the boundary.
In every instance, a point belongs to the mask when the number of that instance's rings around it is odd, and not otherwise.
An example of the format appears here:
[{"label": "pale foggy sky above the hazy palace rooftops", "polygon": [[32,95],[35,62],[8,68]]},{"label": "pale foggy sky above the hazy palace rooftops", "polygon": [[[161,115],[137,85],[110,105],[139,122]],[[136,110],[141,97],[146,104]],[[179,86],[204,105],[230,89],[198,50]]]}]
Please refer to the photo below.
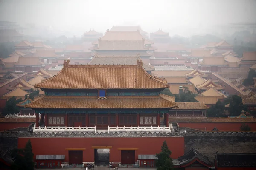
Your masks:
[{"label": "pale foggy sky above the hazy palace rooftops", "polygon": [[0,20],[64,31],[105,32],[140,25],[147,32],[191,32],[232,22],[256,22],[256,0],[0,0]]}]

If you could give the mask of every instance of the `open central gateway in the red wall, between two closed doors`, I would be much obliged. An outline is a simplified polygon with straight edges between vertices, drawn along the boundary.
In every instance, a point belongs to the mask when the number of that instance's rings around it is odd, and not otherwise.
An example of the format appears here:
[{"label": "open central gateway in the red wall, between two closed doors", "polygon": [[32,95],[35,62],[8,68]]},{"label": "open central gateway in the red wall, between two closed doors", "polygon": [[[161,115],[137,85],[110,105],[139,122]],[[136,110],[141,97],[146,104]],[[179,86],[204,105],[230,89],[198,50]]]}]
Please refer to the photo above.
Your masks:
[{"label": "open central gateway in the red wall, between two closed doors", "polygon": [[95,165],[107,166],[109,164],[109,149],[94,149]]}]

